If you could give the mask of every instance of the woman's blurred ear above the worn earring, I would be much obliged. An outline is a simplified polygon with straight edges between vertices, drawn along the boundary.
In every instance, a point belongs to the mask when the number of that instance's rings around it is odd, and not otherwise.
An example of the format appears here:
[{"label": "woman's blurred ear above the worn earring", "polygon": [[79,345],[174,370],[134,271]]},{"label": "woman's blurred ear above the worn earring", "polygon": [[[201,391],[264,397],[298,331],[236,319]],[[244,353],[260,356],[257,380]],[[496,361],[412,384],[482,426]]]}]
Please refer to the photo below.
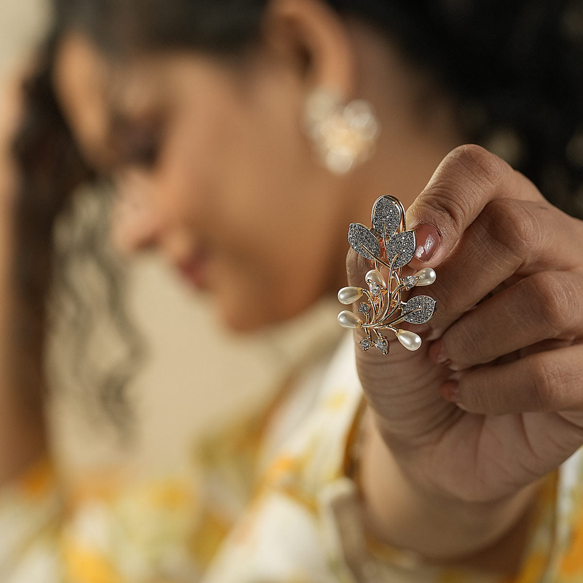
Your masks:
[{"label": "woman's blurred ear above the worn earring", "polygon": [[306,92],[325,87],[353,96],[356,55],[346,21],[321,0],[272,0],[264,40],[297,69]]}]

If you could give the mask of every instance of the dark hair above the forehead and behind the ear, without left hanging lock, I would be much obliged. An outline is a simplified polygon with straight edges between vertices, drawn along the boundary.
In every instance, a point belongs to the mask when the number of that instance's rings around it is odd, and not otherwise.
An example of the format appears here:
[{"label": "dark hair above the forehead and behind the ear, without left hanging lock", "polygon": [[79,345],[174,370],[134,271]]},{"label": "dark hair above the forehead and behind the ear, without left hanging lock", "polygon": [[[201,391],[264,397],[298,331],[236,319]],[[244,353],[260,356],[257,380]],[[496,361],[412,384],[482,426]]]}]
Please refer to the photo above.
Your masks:
[{"label": "dark hair above the forehead and behind the ear, without left hanging lock", "polygon": [[[56,0],[101,48],[237,54],[268,0]],[[580,0],[322,0],[370,24],[452,96],[466,141],[500,153],[583,216]]]}]

